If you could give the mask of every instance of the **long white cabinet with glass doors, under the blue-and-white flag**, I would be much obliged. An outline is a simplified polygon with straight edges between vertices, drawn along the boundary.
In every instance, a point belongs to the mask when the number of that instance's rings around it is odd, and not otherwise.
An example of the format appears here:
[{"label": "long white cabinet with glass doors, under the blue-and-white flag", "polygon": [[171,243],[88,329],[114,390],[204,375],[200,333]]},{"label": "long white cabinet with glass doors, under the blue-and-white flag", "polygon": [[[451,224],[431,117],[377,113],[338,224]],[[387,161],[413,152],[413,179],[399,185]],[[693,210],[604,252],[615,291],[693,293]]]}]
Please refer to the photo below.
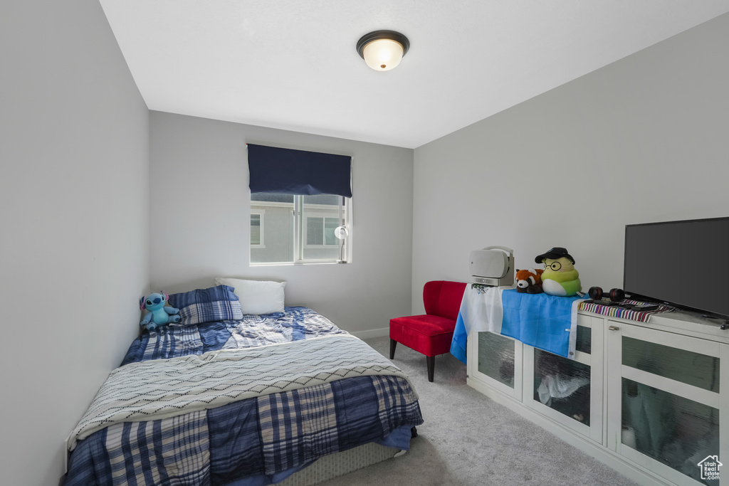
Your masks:
[{"label": "long white cabinet with glass doors, under the blue-and-white flag", "polygon": [[[728,486],[729,331],[580,311],[577,333],[574,360],[469,336],[468,384],[641,484]],[[701,477],[712,457],[720,480]]]}]

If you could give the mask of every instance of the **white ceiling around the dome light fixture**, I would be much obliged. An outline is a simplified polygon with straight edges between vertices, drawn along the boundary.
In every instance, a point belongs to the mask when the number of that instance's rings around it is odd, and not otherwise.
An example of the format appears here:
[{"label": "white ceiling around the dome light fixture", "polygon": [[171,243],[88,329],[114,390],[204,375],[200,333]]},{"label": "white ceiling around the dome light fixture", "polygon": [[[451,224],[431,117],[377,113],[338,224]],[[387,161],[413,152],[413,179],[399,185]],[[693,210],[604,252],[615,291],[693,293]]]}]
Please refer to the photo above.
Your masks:
[{"label": "white ceiling around the dome light fixture", "polygon": [[[729,0],[100,0],[152,110],[415,148]],[[392,71],[360,36],[402,32]]]}]

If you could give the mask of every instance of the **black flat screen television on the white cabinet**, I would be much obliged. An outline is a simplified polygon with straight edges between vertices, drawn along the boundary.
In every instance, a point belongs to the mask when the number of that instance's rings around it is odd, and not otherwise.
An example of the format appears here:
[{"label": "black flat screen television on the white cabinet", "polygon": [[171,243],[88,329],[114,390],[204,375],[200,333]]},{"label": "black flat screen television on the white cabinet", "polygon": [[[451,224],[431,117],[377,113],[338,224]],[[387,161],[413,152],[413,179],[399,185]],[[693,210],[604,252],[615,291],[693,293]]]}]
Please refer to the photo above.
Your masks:
[{"label": "black flat screen television on the white cabinet", "polygon": [[623,290],[729,319],[729,217],[625,226]]}]

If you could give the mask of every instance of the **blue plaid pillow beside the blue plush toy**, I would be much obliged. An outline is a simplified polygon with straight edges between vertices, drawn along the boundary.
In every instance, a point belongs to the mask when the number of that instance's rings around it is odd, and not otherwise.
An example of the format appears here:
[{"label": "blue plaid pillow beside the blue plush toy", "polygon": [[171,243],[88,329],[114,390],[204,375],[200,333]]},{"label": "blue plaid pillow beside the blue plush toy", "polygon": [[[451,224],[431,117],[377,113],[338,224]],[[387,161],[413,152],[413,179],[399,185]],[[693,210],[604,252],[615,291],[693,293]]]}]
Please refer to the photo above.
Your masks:
[{"label": "blue plaid pillow beside the blue plush toy", "polygon": [[172,294],[168,302],[180,310],[178,326],[240,321],[243,318],[241,302],[233,293],[233,287],[227,285]]}]

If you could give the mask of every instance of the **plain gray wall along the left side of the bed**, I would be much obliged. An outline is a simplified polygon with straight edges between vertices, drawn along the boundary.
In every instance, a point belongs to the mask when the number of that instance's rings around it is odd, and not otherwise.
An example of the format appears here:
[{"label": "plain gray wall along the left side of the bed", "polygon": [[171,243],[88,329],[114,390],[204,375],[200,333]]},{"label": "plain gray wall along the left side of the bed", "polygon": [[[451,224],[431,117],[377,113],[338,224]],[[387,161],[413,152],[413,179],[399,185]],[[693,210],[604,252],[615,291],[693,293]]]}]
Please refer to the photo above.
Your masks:
[{"label": "plain gray wall along the left side of the bed", "polygon": [[149,111],[98,1],[0,15],[0,475],[56,485],[149,282]]}]

